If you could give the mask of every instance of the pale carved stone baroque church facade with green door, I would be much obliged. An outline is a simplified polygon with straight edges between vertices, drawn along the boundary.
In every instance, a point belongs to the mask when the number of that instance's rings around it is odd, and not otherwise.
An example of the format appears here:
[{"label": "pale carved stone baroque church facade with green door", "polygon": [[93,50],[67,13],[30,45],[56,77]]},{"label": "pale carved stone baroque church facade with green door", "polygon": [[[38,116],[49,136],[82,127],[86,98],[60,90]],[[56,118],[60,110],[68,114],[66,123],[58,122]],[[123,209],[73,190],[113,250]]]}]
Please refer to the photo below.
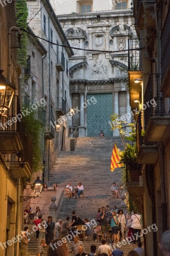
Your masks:
[{"label": "pale carved stone baroque church facade with green door", "polygon": [[127,1],[118,9],[109,0],[86,2],[65,0],[58,7],[53,2],[70,45],[81,48],[69,58],[71,105],[77,109],[70,128],[77,127],[79,137],[97,137],[101,130],[106,137],[119,136],[109,121],[112,113],[130,113],[127,49],[128,39],[136,38],[134,20]]}]

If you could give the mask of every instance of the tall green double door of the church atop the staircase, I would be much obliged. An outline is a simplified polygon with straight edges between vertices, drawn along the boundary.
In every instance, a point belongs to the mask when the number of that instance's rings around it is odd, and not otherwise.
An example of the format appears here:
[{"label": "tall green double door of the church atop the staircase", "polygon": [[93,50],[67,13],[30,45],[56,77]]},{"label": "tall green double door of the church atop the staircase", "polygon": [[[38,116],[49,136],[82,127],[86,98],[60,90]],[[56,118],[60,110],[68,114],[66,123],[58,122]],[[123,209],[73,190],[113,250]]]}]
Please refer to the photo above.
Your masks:
[{"label": "tall green double door of the church atop the staircase", "polygon": [[[95,97],[96,104],[91,103],[91,97]],[[87,129],[88,137],[98,137],[103,130],[105,137],[112,137],[111,126],[108,124],[112,114],[112,93],[88,94]]]}]

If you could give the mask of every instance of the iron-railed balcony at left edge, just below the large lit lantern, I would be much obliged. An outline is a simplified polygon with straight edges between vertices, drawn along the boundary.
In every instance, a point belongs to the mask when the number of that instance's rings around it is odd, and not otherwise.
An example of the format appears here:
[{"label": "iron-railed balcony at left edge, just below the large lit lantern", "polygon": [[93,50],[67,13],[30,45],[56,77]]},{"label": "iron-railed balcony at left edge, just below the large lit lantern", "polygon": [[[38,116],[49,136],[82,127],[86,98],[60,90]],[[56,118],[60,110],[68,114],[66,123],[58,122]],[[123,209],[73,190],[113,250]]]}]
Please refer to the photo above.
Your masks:
[{"label": "iron-railed balcony at left edge, just below the large lit lantern", "polygon": [[14,96],[11,108],[5,116],[0,117],[0,151],[2,154],[11,154],[23,149],[22,146],[22,115],[18,96]]}]

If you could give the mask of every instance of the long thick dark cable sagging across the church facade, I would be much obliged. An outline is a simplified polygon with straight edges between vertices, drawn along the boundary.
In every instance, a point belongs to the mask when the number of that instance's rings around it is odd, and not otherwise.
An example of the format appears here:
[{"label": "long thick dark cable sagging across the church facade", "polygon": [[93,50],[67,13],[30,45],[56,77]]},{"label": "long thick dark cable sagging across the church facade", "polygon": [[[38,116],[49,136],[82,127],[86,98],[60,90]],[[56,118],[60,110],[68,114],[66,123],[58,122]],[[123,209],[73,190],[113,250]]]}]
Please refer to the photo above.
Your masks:
[{"label": "long thick dark cable sagging across the church facade", "polygon": [[[117,51],[105,51],[105,50],[94,50],[94,49],[83,49],[83,48],[77,48],[77,47],[71,47],[71,46],[67,46],[67,45],[63,45],[63,44],[56,44],[56,43],[53,43],[51,41],[48,41],[47,39],[45,38],[41,38],[31,32],[28,32],[26,29],[23,29],[23,28],[20,28],[21,31],[24,31],[30,35],[32,35],[33,37],[35,38],[38,38],[38,39],[41,39],[43,41],[46,41],[50,44],[53,44],[53,45],[58,45],[58,46],[62,46],[62,47],[65,47],[65,48],[70,48],[70,49],[76,49],[76,50],[83,50],[83,51],[89,51],[89,52],[104,52],[104,53],[113,53],[113,52],[126,52],[126,51],[130,51],[130,49],[125,49],[125,50],[117,50]],[[139,47],[139,48],[135,48],[133,50],[137,50],[137,51],[141,51],[142,49],[145,49],[145,47]]]}]

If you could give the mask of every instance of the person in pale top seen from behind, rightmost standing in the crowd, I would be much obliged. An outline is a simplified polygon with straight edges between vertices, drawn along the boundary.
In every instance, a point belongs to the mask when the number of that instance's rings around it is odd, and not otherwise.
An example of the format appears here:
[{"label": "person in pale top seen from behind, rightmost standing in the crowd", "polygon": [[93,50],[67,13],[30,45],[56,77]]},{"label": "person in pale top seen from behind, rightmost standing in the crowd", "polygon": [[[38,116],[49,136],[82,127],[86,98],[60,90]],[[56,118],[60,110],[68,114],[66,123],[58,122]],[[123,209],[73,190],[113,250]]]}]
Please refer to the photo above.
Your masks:
[{"label": "person in pale top seen from behind, rightmost standing in the crowd", "polygon": [[134,211],[134,215],[132,215],[132,217],[130,218],[130,221],[132,222],[131,224],[131,228],[132,228],[132,233],[134,236],[134,240],[133,240],[133,245],[136,244],[136,237],[138,237],[138,242],[141,241],[141,237],[140,237],[140,232],[141,232],[141,216],[139,214],[136,214],[136,212]]}]

